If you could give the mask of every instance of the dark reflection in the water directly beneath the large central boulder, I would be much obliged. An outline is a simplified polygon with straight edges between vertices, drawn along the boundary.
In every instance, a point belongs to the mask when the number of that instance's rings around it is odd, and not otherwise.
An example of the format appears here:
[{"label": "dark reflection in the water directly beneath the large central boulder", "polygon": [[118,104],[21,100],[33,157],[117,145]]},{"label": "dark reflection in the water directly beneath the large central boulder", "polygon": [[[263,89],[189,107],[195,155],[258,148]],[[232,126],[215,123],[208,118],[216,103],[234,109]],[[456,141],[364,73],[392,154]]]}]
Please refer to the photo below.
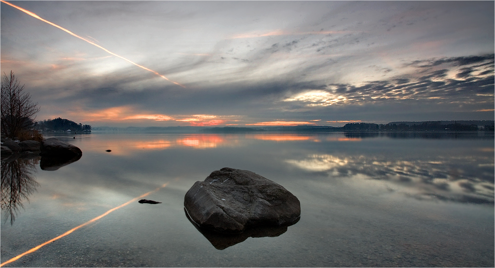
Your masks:
[{"label": "dark reflection in the water directly beneath the large central boulder", "polygon": [[296,224],[300,218],[296,219],[290,225],[282,226],[255,226],[245,230],[240,234],[225,234],[219,233],[205,228],[201,228],[196,224],[187,214],[184,209],[187,219],[194,225],[194,227],[202,234],[208,241],[218,250],[224,250],[228,247],[234,246],[241,242],[246,241],[249,237],[277,237],[287,231],[288,226]]}]

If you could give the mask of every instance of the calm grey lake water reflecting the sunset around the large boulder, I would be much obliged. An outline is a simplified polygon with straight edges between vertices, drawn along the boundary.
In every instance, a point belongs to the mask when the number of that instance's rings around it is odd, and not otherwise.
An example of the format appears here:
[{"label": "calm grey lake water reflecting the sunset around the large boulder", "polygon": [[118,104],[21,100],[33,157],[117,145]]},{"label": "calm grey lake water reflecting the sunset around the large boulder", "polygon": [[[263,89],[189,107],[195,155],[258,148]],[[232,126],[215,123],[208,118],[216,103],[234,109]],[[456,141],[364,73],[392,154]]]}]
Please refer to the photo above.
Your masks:
[{"label": "calm grey lake water reflecting the sunset around the large boulder", "polygon": [[[75,229],[2,267],[494,267],[493,134],[58,138],[82,158],[2,161],[1,263]],[[284,186],[299,222],[200,233],[184,196],[222,167]]]}]

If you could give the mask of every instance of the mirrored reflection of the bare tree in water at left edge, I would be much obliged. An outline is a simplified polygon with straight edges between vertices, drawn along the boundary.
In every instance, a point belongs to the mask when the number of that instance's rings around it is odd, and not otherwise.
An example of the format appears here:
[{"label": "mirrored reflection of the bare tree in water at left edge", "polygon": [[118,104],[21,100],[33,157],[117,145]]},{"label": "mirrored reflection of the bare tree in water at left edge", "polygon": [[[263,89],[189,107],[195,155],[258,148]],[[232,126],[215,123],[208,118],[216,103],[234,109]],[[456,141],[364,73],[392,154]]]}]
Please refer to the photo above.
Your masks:
[{"label": "mirrored reflection of the bare tree in water at left edge", "polygon": [[1,161],[1,210],[5,221],[10,218],[13,224],[22,202],[36,191],[39,186],[35,180],[36,164],[40,157],[35,154],[17,155]]}]

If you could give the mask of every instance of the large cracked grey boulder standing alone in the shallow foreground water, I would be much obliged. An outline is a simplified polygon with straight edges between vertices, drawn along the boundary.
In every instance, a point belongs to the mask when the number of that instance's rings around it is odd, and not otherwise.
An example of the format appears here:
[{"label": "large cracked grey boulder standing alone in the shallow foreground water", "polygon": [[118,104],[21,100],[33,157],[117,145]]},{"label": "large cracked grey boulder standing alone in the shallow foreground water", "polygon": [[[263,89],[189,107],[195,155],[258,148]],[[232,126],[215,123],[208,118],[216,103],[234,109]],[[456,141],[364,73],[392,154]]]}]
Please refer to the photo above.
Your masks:
[{"label": "large cracked grey boulder standing alone in the shallow foreground water", "polygon": [[187,191],[184,207],[202,228],[241,233],[257,225],[292,225],[301,215],[297,197],[248,170],[224,167]]}]

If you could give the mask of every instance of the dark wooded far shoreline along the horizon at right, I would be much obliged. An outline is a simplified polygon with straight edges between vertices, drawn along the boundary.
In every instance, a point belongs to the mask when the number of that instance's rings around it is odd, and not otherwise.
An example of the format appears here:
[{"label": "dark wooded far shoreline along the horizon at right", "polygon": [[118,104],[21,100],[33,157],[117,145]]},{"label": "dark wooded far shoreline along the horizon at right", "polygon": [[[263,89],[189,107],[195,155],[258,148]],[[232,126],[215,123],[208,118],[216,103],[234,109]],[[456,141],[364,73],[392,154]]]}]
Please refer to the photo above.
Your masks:
[{"label": "dark wooded far shoreline along the horizon at right", "polygon": [[[373,124],[373,123],[348,123],[340,127],[341,131],[477,131],[476,124],[460,124],[457,122],[442,124],[441,121],[428,121],[420,124]],[[494,125],[484,125],[482,130],[494,131]]]}]

